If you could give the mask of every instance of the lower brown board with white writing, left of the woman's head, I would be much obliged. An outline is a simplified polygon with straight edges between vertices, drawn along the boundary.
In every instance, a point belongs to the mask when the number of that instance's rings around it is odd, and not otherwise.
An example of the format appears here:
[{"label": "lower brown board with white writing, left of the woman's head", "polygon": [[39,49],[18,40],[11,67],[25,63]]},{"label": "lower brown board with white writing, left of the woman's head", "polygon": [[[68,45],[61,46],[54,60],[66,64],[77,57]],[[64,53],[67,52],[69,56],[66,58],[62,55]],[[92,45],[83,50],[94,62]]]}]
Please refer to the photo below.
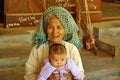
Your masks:
[{"label": "lower brown board with white writing, left of the woman's head", "polygon": [[38,24],[41,14],[6,14],[5,27],[28,27]]}]

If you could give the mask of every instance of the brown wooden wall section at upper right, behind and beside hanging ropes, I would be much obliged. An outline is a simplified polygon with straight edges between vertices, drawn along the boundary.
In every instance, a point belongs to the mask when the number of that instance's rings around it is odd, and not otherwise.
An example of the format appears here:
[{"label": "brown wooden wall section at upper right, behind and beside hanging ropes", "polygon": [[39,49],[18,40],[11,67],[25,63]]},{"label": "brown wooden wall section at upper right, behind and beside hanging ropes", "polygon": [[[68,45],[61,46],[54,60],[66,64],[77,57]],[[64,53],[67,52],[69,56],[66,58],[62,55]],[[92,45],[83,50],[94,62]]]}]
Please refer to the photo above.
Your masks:
[{"label": "brown wooden wall section at upper right, behind and beside hanging ropes", "polygon": [[[80,0],[81,3],[81,14],[84,16],[85,12],[85,0]],[[87,0],[88,3],[88,13],[91,17],[91,22],[101,21],[102,11],[101,11],[101,0]]]}]

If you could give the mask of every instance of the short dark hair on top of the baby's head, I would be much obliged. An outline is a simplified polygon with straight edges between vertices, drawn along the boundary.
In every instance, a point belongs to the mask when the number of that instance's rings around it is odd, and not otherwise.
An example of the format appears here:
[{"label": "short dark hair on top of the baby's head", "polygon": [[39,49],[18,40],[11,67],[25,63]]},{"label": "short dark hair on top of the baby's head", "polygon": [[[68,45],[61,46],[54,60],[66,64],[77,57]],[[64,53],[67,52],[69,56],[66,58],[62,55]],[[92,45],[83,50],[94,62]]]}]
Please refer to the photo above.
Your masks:
[{"label": "short dark hair on top of the baby's head", "polygon": [[67,51],[63,44],[55,43],[55,44],[51,45],[50,49],[49,49],[49,54],[52,54],[52,53],[55,53],[55,54],[66,53],[67,54]]}]

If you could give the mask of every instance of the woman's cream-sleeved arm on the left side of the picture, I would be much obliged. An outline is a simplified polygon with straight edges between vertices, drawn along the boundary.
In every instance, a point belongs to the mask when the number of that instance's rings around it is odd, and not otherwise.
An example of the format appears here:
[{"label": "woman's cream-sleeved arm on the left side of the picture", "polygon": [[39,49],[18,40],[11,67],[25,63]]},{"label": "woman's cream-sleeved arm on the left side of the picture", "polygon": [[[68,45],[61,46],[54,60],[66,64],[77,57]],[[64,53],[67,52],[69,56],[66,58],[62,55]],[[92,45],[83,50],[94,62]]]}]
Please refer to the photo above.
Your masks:
[{"label": "woman's cream-sleeved arm on the left side of the picture", "polygon": [[[40,63],[39,63],[40,64]],[[37,60],[37,49],[32,48],[29,58],[25,64],[25,80],[37,80],[39,74],[38,60]]]}]

